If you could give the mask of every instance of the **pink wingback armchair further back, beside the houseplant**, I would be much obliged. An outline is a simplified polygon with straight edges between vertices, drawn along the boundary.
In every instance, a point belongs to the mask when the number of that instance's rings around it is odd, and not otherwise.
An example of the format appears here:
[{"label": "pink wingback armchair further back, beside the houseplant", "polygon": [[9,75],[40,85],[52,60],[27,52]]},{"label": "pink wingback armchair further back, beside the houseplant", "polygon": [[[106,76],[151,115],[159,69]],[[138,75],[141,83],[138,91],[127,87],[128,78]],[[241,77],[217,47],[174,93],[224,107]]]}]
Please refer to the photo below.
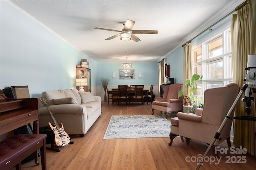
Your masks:
[{"label": "pink wingback armchair further back, beside the houseplant", "polygon": [[183,100],[182,97],[178,97],[180,90],[182,90],[182,84],[170,84],[164,86],[164,95],[162,98],[155,98],[152,102],[152,115],[154,114],[154,109],[159,111],[164,111],[166,117],[170,111],[182,111]]}]

